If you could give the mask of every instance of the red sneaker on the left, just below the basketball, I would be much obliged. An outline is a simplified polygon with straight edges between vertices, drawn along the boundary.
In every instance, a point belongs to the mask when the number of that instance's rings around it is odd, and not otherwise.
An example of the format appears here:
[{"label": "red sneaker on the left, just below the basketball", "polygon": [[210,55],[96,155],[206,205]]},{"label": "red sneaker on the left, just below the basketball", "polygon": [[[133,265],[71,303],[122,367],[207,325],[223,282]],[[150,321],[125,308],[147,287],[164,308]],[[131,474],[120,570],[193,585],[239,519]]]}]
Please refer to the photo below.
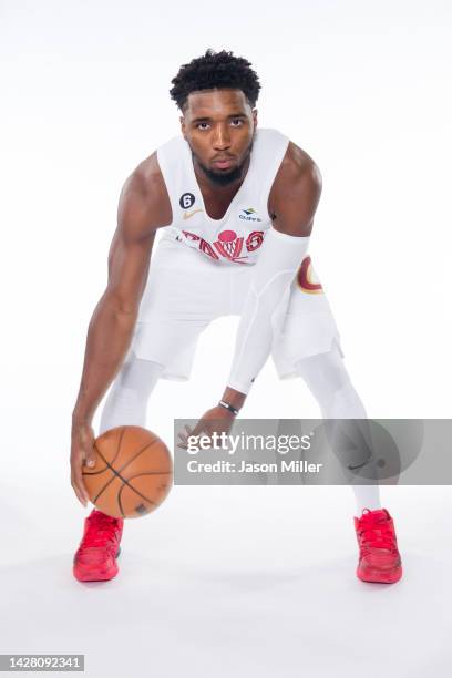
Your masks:
[{"label": "red sneaker on the left, just below the basketball", "polygon": [[74,555],[73,573],[79,582],[103,582],[116,576],[123,525],[123,518],[92,510],[85,518],[83,537]]}]

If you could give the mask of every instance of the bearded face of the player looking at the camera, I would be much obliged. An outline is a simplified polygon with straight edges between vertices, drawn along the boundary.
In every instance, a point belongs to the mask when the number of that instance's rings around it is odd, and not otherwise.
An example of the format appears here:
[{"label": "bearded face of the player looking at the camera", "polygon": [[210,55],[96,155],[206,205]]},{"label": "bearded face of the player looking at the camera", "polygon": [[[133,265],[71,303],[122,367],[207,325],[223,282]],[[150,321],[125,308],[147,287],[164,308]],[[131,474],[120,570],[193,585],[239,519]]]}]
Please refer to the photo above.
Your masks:
[{"label": "bearded face of the player looking at the camera", "polygon": [[257,126],[257,111],[242,90],[192,92],[181,124],[194,160],[213,183],[226,186],[242,177]]}]

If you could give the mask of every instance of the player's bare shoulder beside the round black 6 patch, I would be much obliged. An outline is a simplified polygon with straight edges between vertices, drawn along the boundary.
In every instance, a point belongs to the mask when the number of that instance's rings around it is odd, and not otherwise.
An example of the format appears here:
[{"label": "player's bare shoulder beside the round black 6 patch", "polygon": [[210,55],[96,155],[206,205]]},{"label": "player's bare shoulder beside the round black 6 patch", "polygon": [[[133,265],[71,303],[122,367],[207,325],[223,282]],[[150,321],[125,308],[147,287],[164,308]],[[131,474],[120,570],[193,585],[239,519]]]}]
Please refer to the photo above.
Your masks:
[{"label": "player's bare shoulder beside the round black 6 patch", "polygon": [[144,237],[171,220],[170,198],[157,152],[154,152],[126,178],[120,195],[117,222],[131,237]]}]

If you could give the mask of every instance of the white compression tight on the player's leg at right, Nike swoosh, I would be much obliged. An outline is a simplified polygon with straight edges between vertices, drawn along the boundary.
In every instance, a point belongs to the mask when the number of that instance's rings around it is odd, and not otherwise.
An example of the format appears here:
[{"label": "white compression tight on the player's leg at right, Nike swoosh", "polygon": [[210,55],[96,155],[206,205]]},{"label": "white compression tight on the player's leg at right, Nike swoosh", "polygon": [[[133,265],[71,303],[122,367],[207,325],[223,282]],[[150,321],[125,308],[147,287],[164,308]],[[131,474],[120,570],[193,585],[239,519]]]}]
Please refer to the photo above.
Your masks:
[{"label": "white compression tight on the player's leg at right, Nike swoosh", "polygon": [[[337,345],[327,353],[297,362],[297,373],[316,398],[323,419],[367,419],[360,397],[345,368]],[[363,508],[381,508],[379,485],[351,485],[360,516]]]}]

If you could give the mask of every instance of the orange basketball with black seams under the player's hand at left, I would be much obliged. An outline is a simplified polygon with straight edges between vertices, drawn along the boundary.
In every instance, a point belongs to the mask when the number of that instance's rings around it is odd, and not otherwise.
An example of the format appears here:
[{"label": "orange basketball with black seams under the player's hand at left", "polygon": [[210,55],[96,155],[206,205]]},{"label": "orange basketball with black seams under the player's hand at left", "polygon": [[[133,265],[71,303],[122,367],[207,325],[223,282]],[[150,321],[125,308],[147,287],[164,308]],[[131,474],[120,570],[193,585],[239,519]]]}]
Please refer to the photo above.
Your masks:
[{"label": "orange basketball with black seams under the player's hand at left", "polygon": [[170,492],[173,463],[165,443],[142,427],[117,427],[95,439],[95,466],[83,466],[90,501],[112,517],[141,517]]}]

